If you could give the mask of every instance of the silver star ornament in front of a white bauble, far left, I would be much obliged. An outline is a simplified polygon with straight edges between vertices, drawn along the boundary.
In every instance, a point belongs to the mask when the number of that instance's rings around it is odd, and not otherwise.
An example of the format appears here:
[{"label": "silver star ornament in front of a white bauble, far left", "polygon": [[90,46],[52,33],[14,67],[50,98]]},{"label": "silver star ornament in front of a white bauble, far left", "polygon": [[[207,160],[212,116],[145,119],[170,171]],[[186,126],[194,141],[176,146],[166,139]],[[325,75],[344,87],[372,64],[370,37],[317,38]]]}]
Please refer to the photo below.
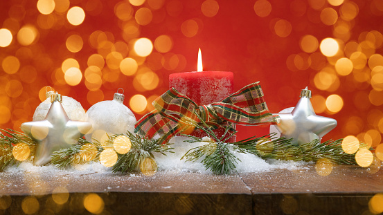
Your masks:
[{"label": "silver star ornament in front of a white bauble, far left", "polygon": [[21,130],[38,142],[35,153],[35,165],[46,165],[51,161],[54,151],[69,148],[91,129],[89,122],[69,120],[62,107],[62,95],[51,95],[51,108],[45,120],[24,122]]}]

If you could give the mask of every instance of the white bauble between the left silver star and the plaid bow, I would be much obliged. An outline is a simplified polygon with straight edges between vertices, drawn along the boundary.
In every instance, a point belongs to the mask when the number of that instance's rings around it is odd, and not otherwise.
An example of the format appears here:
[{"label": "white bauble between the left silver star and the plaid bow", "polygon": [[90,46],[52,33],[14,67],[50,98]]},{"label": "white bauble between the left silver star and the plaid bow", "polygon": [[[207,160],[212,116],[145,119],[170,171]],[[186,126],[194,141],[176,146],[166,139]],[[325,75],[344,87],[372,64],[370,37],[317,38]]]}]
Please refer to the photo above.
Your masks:
[{"label": "white bauble between the left silver star and the plaid bow", "polygon": [[[118,90],[123,90],[119,88]],[[123,93],[114,93],[113,100],[98,102],[87,111],[87,121],[91,122],[93,132],[99,130],[102,133],[117,134],[134,131],[136,118],[132,111],[123,104]],[[92,133],[85,135],[88,141]],[[96,137],[97,138],[97,137]]]}]

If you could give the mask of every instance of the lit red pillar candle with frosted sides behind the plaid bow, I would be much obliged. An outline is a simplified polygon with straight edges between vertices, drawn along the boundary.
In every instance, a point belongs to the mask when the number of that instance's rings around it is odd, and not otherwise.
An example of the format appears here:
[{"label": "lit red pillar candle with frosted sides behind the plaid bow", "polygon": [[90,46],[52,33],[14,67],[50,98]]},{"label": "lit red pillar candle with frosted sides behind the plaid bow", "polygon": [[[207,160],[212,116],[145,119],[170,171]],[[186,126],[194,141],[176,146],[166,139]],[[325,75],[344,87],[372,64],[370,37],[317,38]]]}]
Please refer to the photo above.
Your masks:
[{"label": "lit red pillar candle with frosted sides behind the plaid bow", "polygon": [[[224,71],[202,71],[201,50],[198,53],[197,72],[173,73],[169,75],[170,88],[174,87],[199,105],[220,102],[234,92],[233,73]],[[216,129],[214,133],[220,138],[224,129]],[[190,135],[204,137],[206,133],[195,130]],[[235,135],[229,140],[235,141]]]}]

